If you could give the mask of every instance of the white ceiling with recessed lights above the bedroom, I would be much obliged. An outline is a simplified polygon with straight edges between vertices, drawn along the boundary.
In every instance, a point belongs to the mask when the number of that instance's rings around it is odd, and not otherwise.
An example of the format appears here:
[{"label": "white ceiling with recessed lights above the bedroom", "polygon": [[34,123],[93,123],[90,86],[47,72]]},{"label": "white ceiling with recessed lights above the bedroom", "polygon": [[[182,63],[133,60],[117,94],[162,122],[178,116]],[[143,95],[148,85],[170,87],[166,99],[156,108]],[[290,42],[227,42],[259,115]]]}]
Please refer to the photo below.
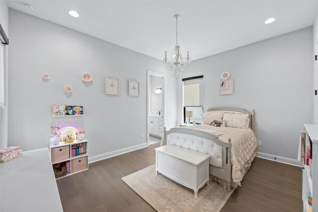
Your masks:
[{"label": "white ceiling with recessed lights above the bedroom", "polygon": [[[312,26],[318,0],[6,0],[11,8],[162,60],[193,60]],[[35,7],[32,11],[24,3]],[[68,14],[76,10],[79,17]],[[275,22],[264,24],[269,17]]]}]

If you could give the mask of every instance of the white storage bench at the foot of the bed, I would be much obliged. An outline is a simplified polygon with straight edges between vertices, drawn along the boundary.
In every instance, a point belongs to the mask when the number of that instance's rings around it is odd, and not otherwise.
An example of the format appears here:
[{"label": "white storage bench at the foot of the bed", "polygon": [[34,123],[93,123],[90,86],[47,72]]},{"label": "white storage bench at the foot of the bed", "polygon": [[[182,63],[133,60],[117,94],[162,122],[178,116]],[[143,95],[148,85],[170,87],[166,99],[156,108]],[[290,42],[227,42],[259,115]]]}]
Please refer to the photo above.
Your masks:
[{"label": "white storage bench at the foot of the bed", "polygon": [[160,172],[171,180],[194,191],[209,185],[209,157],[197,151],[175,145],[164,145],[156,150],[156,174]]}]

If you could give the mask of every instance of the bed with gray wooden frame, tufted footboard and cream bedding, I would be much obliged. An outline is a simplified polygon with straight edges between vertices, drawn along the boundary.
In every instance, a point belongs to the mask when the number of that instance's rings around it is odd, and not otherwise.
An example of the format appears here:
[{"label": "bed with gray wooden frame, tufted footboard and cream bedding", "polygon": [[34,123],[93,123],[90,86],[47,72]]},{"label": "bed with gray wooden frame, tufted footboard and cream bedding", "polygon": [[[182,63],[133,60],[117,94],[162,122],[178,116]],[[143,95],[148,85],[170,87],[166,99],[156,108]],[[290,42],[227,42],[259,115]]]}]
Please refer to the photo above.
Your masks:
[{"label": "bed with gray wooden frame, tufted footboard and cream bedding", "polygon": [[[222,127],[211,126],[223,120]],[[210,174],[228,191],[240,186],[256,156],[254,112],[240,108],[213,108],[205,112],[203,124],[164,130],[161,145],[172,144],[210,155]],[[226,181],[226,182],[225,182]]]}]

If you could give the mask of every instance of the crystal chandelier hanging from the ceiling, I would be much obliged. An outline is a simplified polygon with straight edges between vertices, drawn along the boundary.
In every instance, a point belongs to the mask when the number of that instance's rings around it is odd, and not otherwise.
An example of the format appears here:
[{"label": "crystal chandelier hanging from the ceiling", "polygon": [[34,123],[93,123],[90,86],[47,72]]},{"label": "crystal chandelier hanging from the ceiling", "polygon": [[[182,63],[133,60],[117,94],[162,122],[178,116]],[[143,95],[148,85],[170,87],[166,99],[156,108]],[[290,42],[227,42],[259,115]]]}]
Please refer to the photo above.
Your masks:
[{"label": "crystal chandelier hanging from the ceiling", "polygon": [[178,45],[178,19],[180,15],[176,14],[173,16],[176,21],[176,45],[174,46],[173,56],[169,60],[167,59],[167,52],[164,53],[163,62],[168,65],[169,70],[172,72],[172,76],[175,74],[176,76],[180,76],[184,67],[191,63],[191,59],[189,58],[189,51],[186,58],[183,58],[180,52],[180,46]]}]

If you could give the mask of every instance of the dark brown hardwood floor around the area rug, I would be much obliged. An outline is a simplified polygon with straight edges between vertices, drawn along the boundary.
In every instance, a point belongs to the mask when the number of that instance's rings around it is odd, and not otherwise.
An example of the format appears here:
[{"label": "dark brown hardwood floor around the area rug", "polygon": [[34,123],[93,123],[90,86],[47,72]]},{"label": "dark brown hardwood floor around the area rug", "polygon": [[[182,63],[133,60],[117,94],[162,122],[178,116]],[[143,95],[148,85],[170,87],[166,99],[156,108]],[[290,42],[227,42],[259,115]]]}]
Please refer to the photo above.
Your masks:
[{"label": "dark brown hardwood floor around the area rug", "polygon": [[[155,164],[159,143],[89,164],[57,180],[64,212],[155,212],[121,180]],[[221,212],[301,212],[302,169],[255,158]]]}]

